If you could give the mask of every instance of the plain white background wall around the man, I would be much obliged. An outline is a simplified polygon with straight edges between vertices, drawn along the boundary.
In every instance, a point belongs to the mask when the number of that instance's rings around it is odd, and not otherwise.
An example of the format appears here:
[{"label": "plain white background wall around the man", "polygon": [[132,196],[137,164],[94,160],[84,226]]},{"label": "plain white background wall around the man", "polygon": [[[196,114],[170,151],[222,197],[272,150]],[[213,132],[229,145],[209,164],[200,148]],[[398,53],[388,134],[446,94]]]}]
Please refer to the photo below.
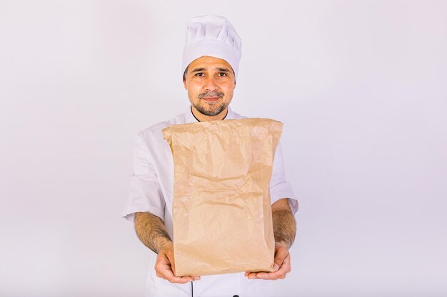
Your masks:
[{"label": "plain white background wall around the man", "polygon": [[242,38],[233,110],[284,123],[277,296],[447,296],[446,1],[0,1],[0,296],[144,296],[134,134],[183,113],[187,19]]}]

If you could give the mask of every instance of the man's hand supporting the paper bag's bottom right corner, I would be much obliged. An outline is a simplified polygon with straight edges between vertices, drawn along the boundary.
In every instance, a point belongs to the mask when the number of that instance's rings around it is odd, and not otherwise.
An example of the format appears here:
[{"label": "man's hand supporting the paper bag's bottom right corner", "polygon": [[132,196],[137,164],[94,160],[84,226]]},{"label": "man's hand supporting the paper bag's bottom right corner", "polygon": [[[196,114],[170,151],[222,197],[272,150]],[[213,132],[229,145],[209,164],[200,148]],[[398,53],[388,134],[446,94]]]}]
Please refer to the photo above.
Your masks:
[{"label": "man's hand supporting the paper bag's bottom right corner", "polygon": [[275,244],[275,264],[276,271],[273,272],[246,272],[249,279],[276,280],[286,278],[286,274],[291,271],[290,254],[288,254],[286,244]]}]

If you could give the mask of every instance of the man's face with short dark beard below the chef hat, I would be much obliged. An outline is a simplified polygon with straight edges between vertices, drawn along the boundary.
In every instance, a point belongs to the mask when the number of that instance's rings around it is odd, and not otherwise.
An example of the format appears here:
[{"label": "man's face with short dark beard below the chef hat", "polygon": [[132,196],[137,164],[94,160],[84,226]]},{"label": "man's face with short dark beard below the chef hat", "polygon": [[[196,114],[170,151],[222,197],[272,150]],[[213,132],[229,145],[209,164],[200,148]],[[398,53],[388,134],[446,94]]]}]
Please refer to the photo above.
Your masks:
[{"label": "man's face with short dark beard below the chef hat", "polygon": [[197,58],[189,64],[184,85],[192,108],[209,117],[226,113],[236,87],[230,64],[210,56]]}]

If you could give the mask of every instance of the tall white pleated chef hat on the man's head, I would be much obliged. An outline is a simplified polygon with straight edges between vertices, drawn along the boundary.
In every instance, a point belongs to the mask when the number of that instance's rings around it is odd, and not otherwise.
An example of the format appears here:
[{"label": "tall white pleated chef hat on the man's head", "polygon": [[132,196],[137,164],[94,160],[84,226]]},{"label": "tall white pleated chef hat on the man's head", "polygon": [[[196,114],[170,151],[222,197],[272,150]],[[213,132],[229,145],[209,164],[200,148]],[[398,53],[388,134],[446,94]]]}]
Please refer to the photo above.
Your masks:
[{"label": "tall white pleated chef hat on the man's head", "polygon": [[241,38],[223,16],[197,16],[188,21],[182,73],[192,61],[201,56],[224,59],[237,77],[241,60]]}]

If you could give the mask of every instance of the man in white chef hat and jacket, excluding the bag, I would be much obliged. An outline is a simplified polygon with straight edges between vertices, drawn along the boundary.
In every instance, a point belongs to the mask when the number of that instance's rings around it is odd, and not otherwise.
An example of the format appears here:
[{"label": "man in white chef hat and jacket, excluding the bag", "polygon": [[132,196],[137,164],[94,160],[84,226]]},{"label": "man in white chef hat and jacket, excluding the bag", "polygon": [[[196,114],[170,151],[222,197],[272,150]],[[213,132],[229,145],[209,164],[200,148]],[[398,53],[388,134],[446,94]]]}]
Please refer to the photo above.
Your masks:
[{"label": "man in white chef hat and jacket, excluding the bag", "polygon": [[[221,16],[189,21],[186,30],[184,88],[191,108],[176,118],[139,132],[135,138],[134,175],[124,217],[152,254],[146,296],[273,296],[273,283],[291,269],[288,249],[295,238],[296,197],[286,182],[278,145],[271,177],[276,271],[217,276],[174,276],[172,202],[174,164],[161,130],[174,124],[239,119],[228,105],[236,87],[241,39]],[[154,267],[154,269],[152,269]]]}]

